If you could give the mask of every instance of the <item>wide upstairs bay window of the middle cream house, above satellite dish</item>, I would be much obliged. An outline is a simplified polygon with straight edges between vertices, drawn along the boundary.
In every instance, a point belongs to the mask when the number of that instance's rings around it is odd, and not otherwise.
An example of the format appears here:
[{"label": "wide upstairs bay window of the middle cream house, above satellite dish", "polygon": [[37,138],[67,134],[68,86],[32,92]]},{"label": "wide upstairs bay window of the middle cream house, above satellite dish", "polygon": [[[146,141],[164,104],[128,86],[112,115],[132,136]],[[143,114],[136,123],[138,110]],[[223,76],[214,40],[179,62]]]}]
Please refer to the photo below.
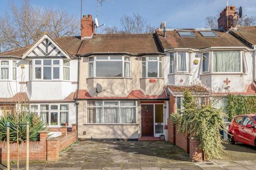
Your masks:
[{"label": "wide upstairs bay window of the middle cream house, above satellite dish", "polygon": [[89,77],[130,78],[130,57],[95,56],[89,58]]}]

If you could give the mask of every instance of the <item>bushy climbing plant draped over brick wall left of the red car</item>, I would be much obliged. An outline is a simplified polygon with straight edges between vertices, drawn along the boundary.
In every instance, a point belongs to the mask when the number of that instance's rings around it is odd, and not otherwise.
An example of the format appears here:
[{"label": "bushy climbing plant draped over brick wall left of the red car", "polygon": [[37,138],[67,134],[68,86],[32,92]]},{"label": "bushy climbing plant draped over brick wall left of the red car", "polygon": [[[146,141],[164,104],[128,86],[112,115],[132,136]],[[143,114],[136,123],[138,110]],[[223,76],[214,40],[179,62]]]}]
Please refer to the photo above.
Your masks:
[{"label": "bushy climbing plant draped over brick wall left of the red car", "polygon": [[195,96],[189,91],[184,91],[182,114],[174,113],[171,119],[178,126],[180,133],[196,136],[200,140],[199,147],[203,150],[205,160],[221,158],[224,151],[220,130],[225,130],[223,121],[225,113],[211,105],[198,107]]}]

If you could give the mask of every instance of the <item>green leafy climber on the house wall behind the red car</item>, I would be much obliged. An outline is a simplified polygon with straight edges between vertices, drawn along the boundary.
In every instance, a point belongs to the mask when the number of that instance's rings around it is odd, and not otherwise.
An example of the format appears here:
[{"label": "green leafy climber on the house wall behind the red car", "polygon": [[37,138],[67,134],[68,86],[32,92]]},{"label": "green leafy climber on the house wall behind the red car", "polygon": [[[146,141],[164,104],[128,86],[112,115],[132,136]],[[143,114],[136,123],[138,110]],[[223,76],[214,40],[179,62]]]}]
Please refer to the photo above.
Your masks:
[{"label": "green leafy climber on the house wall behind the red car", "polygon": [[229,121],[235,115],[256,112],[256,96],[228,95],[226,111]]}]

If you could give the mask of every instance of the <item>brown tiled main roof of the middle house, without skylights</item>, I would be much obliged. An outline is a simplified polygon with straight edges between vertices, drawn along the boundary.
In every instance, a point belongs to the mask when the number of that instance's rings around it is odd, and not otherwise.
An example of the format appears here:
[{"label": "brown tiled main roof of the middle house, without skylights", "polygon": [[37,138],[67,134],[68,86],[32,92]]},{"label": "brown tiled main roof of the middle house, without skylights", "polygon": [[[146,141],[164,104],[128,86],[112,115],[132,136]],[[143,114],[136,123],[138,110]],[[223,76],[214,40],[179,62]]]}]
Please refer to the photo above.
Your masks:
[{"label": "brown tiled main roof of the middle house, without skylights", "polygon": [[163,53],[156,35],[150,34],[95,34],[84,39],[78,54],[92,53]]}]

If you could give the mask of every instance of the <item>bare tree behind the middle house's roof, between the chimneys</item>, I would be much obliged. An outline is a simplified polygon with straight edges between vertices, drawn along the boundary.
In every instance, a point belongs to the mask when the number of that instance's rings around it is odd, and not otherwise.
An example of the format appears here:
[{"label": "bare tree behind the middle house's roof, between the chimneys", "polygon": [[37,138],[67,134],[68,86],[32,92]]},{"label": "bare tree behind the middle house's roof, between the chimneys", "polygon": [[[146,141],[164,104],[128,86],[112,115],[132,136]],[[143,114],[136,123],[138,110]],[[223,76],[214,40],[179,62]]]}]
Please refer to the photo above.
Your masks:
[{"label": "bare tree behind the middle house's roof, between the chimneys", "polygon": [[115,25],[113,27],[105,27],[105,33],[152,33],[155,32],[155,27],[148,24],[146,19],[138,13],[133,13],[132,16],[124,15],[120,19],[121,29]]}]

